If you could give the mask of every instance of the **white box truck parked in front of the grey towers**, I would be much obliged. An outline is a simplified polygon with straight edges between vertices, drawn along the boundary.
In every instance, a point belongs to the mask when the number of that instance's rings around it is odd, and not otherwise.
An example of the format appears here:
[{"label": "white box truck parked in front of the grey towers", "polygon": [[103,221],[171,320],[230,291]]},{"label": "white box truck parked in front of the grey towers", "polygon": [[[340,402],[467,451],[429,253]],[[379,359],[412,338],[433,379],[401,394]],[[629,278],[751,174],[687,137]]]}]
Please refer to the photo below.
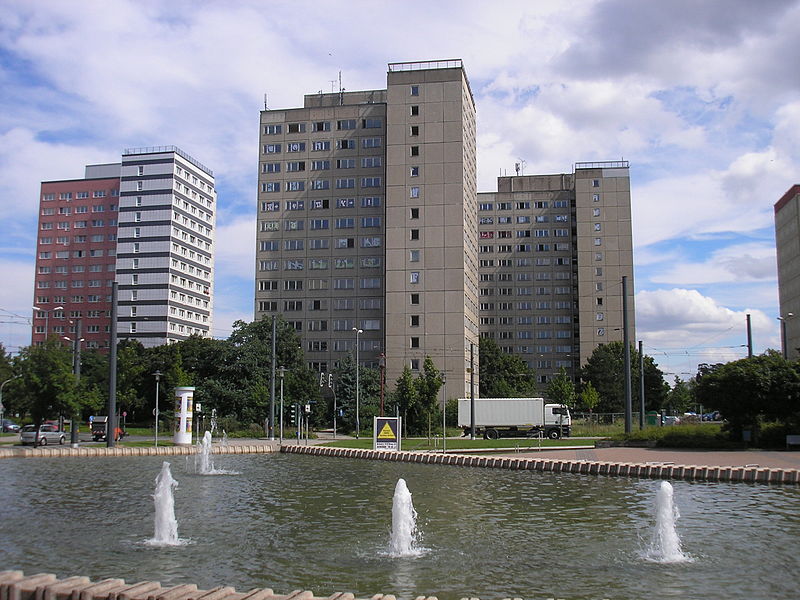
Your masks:
[{"label": "white box truck parked in front of the grey towers", "polygon": [[[458,426],[469,435],[471,401],[458,399]],[[569,437],[572,420],[563,404],[546,404],[544,398],[475,398],[475,434],[486,439],[547,436]]]}]

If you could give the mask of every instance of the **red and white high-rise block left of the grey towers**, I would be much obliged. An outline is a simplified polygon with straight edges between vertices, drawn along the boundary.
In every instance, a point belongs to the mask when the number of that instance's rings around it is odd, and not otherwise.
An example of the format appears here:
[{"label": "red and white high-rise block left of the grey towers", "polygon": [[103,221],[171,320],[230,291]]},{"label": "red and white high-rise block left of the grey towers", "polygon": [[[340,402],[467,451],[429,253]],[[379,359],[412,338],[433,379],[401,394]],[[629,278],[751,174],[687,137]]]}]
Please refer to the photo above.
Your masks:
[{"label": "red and white high-rise block left of the grey towers", "polygon": [[32,342],[80,333],[107,348],[118,282],[120,338],[145,346],[210,335],[216,191],[174,146],[126,150],[84,179],[42,183]]}]

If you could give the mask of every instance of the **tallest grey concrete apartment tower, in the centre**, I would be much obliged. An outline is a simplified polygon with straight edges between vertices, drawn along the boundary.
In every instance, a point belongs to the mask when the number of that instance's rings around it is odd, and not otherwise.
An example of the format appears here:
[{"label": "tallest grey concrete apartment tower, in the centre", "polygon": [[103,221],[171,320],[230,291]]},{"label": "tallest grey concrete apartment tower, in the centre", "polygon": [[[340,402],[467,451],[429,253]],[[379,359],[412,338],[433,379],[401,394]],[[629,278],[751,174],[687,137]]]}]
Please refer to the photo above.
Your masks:
[{"label": "tallest grey concrete apartment tower, in the centre", "polygon": [[320,371],[351,352],[385,358],[391,380],[429,355],[466,382],[477,201],[461,61],[393,63],[385,90],[263,111],[259,172],[256,318],[282,313]]}]

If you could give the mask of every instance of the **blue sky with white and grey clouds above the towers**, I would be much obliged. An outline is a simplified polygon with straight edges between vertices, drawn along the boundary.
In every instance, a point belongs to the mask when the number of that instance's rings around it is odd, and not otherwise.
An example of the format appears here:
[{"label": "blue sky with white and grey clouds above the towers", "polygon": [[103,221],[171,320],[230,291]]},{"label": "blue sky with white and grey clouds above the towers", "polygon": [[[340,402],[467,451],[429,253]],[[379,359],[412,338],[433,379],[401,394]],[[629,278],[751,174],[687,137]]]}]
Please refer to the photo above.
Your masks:
[{"label": "blue sky with white and grey clouds above the towers", "polygon": [[780,348],[773,205],[800,181],[800,0],[4,0],[0,343],[30,343],[41,181],[176,145],[216,176],[213,335],[253,319],[259,111],[461,58],[478,189],[630,162],[636,334],[666,378]]}]

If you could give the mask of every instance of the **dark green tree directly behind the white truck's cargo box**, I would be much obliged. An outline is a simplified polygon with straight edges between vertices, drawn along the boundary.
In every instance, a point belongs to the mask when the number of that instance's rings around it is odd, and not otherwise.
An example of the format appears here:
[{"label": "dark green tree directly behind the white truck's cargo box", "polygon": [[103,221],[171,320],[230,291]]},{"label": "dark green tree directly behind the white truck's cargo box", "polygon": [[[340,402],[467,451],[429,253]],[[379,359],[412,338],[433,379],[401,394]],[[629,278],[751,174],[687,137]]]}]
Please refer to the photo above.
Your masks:
[{"label": "dark green tree directly behind the white truck's cargo box", "polygon": [[536,374],[519,356],[503,352],[492,338],[481,338],[480,395],[484,398],[536,396]]}]

